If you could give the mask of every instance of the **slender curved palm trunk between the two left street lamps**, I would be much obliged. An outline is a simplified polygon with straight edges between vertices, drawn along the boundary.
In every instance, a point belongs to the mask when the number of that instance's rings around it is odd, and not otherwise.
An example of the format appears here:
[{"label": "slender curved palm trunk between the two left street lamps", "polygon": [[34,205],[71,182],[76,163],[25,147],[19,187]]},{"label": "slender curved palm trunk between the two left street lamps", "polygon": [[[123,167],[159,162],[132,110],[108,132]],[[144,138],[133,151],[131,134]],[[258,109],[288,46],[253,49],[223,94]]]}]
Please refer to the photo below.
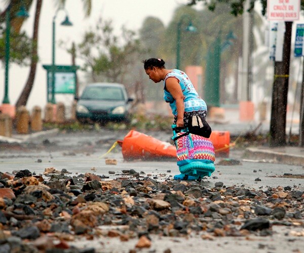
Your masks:
[{"label": "slender curved palm trunk between the two left street lamps", "polygon": [[35,80],[36,75],[36,66],[37,66],[37,48],[38,48],[38,30],[39,30],[39,20],[40,20],[40,13],[42,7],[43,0],[37,0],[36,3],[36,12],[35,12],[35,20],[34,20],[34,29],[33,29],[33,41],[32,41],[32,57],[31,57],[31,64],[29,75],[27,81],[25,83],[24,89],[21,92],[19,99],[16,102],[16,108],[21,105],[26,105],[30,92],[33,88],[33,83]]}]

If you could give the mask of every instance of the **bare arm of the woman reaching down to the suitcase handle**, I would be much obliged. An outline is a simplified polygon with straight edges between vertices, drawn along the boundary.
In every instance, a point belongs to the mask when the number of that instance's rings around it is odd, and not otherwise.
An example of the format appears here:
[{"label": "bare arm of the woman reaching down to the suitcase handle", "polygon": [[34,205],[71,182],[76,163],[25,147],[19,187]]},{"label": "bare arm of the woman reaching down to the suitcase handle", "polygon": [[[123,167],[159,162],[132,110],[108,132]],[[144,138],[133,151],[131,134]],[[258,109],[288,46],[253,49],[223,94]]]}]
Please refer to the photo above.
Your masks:
[{"label": "bare arm of the woman reaching down to the suitcase handle", "polygon": [[176,109],[177,109],[177,121],[176,126],[183,126],[183,114],[184,114],[184,95],[182,94],[178,79],[175,77],[169,77],[166,79],[166,89],[174,100],[176,101]]}]

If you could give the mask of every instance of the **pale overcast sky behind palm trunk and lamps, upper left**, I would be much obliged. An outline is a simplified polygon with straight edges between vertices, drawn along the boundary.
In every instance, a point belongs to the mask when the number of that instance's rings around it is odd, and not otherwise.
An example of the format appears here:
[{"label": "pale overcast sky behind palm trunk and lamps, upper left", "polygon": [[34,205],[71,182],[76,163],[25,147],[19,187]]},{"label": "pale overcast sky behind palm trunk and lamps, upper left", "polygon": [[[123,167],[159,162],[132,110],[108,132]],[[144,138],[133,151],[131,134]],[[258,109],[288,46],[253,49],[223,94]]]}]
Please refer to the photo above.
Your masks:
[{"label": "pale overcast sky behind palm trunk and lamps, upper left", "polygon": [[[30,17],[25,21],[22,29],[32,36],[32,26],[34,18],[35,2],[32,9],[29,10]],[[3,10],[6,1],[0,0],[0,10]],[[165,25],[172,18],[175,8],[187,3],[187,0],[92,0],[92,14],[85,18],[83,4],[81,0],[67,0],[66,10],[73,26],[60,26],[65,17],[64,11],[60,11],[56,17],[56,41],[64,40],[78,43],[86,28],[94,25],[100,16],[104,19],[112,20],[116,33],[119,33],[122,25],[128,29],[137,31],[147,16],[160,18]],[[40,28],[39,28],[39,57],[37,72],[27,108],[35,105],[44,107],[47,102],[46,96],[46,70],[43,64],[51,64],[52,61],[52,20],[56,9],[54,1],[44,0]],[[70,47],[70,45],[67,45]],[[0,63],[1,64],[1,63]],[[56,64],[70,65],[71,59],[64,50],[56,47]],[[10,64],[9,70],[9,99],[11,104],[15,104],[27,80],[29,67],[20,68],[16,64]],[[4,66],[0,68],[0,104],[4,97]],[[59,102],[61,97],[57,99]],[[66,96],[65,96],[66,99]],[[72,101],[72,96],[67,98]]]}]

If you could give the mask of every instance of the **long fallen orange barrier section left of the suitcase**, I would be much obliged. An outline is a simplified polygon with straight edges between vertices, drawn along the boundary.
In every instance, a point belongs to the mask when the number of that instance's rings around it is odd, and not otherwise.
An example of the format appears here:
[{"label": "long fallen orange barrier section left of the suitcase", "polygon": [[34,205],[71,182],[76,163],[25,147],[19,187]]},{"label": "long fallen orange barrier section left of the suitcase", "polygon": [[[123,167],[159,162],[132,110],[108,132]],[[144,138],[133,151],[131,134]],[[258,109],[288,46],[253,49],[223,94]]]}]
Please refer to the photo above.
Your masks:
[{"label": "long fallen orange barrier section left of the suitcase", "polygon": [[151,136],[131,130],[123,141],[124,159],[151,159],[151,158],[176,158],[176,148],[168,142],[163,142]]}]

